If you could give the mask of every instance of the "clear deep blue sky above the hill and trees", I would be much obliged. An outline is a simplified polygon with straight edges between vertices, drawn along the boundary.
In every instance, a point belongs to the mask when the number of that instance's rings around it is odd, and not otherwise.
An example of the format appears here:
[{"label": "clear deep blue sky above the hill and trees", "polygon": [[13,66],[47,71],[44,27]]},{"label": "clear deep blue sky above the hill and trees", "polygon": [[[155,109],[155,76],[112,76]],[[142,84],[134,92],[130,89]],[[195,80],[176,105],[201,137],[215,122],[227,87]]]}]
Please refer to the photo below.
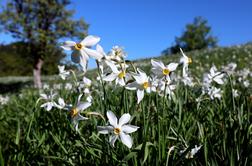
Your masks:
[{"label": "clear deep blue sky above the hill and trees", "polygon": [[[158,56],[195,16],[208,20],[221,46],[252,41],[251,7],[251,0],[73,0],[69,6],[106,51],[123,46],[128,59]],[[0,42],[9,41],[0,34]]]}]

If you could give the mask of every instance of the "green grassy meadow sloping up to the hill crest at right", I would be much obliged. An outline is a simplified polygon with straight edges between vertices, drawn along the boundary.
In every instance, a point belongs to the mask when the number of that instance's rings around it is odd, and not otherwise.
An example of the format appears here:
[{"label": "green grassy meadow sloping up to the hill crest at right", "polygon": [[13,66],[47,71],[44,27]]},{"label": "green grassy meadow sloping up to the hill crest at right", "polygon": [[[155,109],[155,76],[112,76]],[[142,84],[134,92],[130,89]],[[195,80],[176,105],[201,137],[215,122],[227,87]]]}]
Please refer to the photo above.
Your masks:
[{"label": "green grassy meadow sloping up to the hill crest at right", "polygon": [[[136,91],[115,85],[115,81],[96,81],[101,74],[97,69],[86,74],[92,79],[91,85],[83,83],[81,74],[75,71],[77,76],[70,72],[66,80],[44,80],[48,87],[40,92],[31,88],[31,79],[17,91],[5,91],[0,96],[1,165],[251,165],[252,44],[186,55],[192,58],[188,75],[193,85],[185,85],[183,66],[179,65],[170,75],[171,84],[176,86],[173,93],[165,94],[170,84],[163,91],[145,91],[139,104]],[[153,59],[169,64],[178,63],[181,56]],[[127,73],[141,68],[148,76],[153,75],[150,59],[126,63]],[[204,91],[203,75],[213,65],[223,74],[224,84],[212,81],[209,86],[221,90],[220,97]],[[131,76],[126,84],[132,81]],[[6,78],[0,82],[2,86],[13,83]],[[72,106],[54,106],[47,111],[41,107],[47,100],[38,100],[41,93],[56,93],[48,101],[59,104],[60,97]],[[76,131],[71,123],[75,117],[72,111],[80,94],[82,102],[91,95],[92,105],[81,112],[89,119],[80,121]],[[6,96],[9,99],[5,103]],[[129,113],[129,123],[139,127],[129,134],[133,139],[131,148],[121,140],[113,147],[109,135],[99,133],[97,126],[109,124],[107,111],[118,118]],[[110,133],[114,134],[115,130]]]}]

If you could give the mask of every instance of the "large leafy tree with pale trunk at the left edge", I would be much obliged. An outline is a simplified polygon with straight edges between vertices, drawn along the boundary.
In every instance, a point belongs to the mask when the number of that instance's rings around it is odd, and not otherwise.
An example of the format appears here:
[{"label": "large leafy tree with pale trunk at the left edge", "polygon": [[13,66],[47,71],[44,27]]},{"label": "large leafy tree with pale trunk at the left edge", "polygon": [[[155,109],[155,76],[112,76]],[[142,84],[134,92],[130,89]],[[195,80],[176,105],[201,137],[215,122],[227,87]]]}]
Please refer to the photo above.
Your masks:
[{"label": "large leafy tree with pale trunk at the left edge", "polygon": [[1,30],[27,44],[35,87],[41,87],[43,63],[57,64],[64,57],[57,44],[59,39],[87,35],[84,20],[71,19],[74,11],[66,9],[70,3],[70,0],[10,0],[0,13]]}]

